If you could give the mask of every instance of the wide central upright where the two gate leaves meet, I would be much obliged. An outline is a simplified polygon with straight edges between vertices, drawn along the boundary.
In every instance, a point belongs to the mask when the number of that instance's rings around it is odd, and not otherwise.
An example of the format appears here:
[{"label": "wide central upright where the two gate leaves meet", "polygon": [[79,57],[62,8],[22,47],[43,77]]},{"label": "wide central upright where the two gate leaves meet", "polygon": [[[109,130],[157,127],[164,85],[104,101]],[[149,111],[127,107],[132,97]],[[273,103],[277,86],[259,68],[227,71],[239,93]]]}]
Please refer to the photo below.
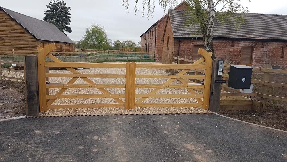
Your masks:
[{"label": "wide central upright where the two gate leaves meet", "polygon": [[126,64],[125,109],[135,108],[135,62]]}]

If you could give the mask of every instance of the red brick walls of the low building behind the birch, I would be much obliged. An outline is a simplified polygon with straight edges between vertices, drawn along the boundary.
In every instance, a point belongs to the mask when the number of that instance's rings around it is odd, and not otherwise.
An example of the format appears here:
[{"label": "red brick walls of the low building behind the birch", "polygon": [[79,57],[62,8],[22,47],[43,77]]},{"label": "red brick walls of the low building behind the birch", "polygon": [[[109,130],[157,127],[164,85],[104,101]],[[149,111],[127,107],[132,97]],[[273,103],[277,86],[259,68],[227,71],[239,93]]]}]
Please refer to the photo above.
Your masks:
[{"label": "red brick walls of the low building behind the birch", "polygon": [[[167,30],[168,31],[168,30]],[[171,31],[166,32],[166,35]],[[193,46],[203,45],[202,39],[182,39],[180,44],[180,57],[192,58]],[[281,66],[282,69],[287,69],[287,47],[284,50],[284,58],[282,56],[282,46],[286,46],[285,42],[265,41],[262,47],[262,41],[256,40],[235,40],[232,47],[232,40],[214,39],[214,51],[216,58],[228,60],[230,64],[240,64],[241,50],[244,46],[253,47],[252,66],[263,67],[264,64],[271,66]],[[178,54],[178,42],[174,41],[174,54]],[[169,52],[167,54],[170,54]],[[171,55],[171,54],[170,54]],[[164,63],[164,62],[163,62]]]}]

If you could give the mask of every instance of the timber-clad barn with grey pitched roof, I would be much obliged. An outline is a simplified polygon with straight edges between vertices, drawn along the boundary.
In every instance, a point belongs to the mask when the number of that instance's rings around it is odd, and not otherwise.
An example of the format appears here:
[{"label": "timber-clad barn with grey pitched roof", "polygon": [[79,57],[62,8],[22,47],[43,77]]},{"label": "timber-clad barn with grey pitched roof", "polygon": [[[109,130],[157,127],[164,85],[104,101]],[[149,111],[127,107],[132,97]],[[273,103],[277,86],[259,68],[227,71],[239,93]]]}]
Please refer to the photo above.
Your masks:
[{"label": "timber-clad barn with grey pitched roof", "polygon": [[36,51],[50,43],[56,51],[74,51],[73,41],[55,25],[0,6],[0,51]]}]

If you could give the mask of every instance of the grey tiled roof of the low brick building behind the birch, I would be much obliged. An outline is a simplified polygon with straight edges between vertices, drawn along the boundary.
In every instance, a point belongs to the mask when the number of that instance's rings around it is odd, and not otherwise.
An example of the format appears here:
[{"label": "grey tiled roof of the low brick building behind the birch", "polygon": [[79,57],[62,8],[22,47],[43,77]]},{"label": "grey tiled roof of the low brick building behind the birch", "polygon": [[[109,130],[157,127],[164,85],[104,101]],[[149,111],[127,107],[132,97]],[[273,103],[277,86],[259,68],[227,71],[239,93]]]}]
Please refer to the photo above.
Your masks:
[{"label": "grey tiled roof of the low brick building behind the birch", "polygon": [[[187,26],[186,11],[169,10],[174,37],[202,37],[195,32],[199,26]],[[215,21],[213,36],[216,38],[276,39],[287,40],[287,15],[242,14],[245,24],[236,29],[231,21],[224,25]]]}]

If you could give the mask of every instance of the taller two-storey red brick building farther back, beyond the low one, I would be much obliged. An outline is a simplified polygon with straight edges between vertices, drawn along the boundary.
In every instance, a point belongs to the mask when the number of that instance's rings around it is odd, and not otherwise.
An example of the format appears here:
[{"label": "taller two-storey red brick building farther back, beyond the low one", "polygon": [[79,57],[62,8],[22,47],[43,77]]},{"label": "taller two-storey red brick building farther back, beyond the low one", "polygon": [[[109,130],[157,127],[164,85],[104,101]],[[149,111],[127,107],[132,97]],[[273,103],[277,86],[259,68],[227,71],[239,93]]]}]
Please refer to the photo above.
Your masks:
[{"label": "taller two-storey red brick building farther back, beyond the low one", "polygon": [[[185,1],[181,2],[176,10],[187,10],[187,3]],[[162,37],[164,33],[164,27],[166,24],[166,14],[160,18],[156,23],[154,23],[146,32],[141,35],[141,51],[156,53],[157,62],[162,62]]]}]

